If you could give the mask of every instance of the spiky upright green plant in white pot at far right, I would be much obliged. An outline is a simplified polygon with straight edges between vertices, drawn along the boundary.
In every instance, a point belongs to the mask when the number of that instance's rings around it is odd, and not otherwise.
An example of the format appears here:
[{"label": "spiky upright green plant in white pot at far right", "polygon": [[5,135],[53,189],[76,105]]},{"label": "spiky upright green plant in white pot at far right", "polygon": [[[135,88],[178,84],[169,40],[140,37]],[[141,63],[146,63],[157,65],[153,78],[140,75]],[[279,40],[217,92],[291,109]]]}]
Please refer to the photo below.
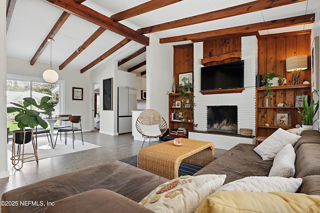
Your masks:
[{"label": "spiky upright green plant in white pot at far right", "polygon": [[314,100],[312,99],[310,102],[310,105],[308,105],[308,102],[304,95],[302,96],[302,103],[303,103],[303,110],[301,112],[301,109],[297,107],[298,113],[301,116],[302,119],[302,128],[304,130],[312,130],[312,124],[313,124],[313,117],[315,113],[318,111],[319,108],[319,101],[314,103]]}]

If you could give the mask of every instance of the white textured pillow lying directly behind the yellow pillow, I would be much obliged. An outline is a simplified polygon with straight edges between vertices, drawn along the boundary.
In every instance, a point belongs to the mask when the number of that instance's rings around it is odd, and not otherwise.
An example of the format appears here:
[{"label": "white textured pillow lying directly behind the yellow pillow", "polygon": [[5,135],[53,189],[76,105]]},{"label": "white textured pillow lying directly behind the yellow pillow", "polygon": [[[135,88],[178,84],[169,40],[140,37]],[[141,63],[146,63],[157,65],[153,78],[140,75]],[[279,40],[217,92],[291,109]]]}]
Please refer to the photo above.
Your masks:
[{"label": "white textured pillow lying directly behind the yellow pillow", "polygon": [[291,192],[295,193],[302,183],[302,178],[282,178],[251,176],[232,181],[220,187],[220,191],[248,191],[248,192]]}]

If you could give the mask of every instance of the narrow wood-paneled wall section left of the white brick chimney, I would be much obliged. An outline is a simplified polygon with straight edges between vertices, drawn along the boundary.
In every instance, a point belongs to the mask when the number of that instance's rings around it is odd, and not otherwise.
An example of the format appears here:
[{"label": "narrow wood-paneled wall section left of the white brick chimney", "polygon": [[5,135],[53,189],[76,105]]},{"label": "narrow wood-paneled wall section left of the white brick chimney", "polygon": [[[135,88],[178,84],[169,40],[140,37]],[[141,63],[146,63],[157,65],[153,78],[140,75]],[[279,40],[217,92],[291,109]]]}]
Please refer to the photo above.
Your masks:
[{"label": "narrow wood-paneled wall section left of the white brick chimney", "polygon": [[176,90],[179,91],[179,73],[193,72],[193,44],[173,47],[173,76]]}]

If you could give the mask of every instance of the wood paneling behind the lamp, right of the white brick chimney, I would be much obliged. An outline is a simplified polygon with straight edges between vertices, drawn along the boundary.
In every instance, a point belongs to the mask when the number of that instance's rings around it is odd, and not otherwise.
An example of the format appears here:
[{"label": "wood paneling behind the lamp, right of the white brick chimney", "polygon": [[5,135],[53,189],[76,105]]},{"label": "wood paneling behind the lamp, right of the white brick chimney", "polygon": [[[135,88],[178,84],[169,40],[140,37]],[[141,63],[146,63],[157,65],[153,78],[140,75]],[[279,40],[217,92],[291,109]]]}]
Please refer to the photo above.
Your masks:
[{"label": "wood paneling behind the lamp, right of the white brick chimney", "polygon": [[[308,55],[310,64],[310,31],[265,35],[258,38],[258,74],[274,72],[292,83],[292,75],[285,71],[285,59],[293,55]],[[311,82],[310,66],[301,71],[301,84]]]}]

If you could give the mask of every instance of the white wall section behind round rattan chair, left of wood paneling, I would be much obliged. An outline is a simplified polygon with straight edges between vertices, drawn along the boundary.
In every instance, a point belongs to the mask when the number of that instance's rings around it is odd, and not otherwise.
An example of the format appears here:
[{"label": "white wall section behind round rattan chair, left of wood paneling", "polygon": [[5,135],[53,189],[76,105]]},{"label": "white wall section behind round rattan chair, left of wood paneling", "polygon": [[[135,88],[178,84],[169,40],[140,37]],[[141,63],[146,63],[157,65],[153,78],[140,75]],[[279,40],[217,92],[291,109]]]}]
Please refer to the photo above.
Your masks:
[{"label": "white wall section behind round rattan chair, left of wood paneling", "polygon": [[159,39],[150,35],[146,47],[146,108],[161,113],[168,121],[168,96],[173,76],[173,46],[160,44]]}]

